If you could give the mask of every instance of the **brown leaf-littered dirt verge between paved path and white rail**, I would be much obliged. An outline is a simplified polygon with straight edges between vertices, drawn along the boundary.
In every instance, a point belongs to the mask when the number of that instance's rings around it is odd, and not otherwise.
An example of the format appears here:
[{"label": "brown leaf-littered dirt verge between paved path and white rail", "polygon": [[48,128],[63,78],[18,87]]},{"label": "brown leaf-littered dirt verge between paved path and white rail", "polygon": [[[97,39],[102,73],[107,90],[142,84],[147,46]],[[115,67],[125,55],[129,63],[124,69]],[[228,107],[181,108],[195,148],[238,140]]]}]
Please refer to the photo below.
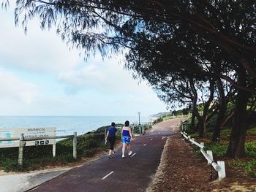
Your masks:
[{"label": "brown leaf-littered dirt verge between paved path and white rail", "polygon": [[256,191],[256,179],[228,164],[225,164],[227,177],[221,181],[211,167],[206,159],[196,158],[193,148],[181,137],[169,137],[147,191]]}]

